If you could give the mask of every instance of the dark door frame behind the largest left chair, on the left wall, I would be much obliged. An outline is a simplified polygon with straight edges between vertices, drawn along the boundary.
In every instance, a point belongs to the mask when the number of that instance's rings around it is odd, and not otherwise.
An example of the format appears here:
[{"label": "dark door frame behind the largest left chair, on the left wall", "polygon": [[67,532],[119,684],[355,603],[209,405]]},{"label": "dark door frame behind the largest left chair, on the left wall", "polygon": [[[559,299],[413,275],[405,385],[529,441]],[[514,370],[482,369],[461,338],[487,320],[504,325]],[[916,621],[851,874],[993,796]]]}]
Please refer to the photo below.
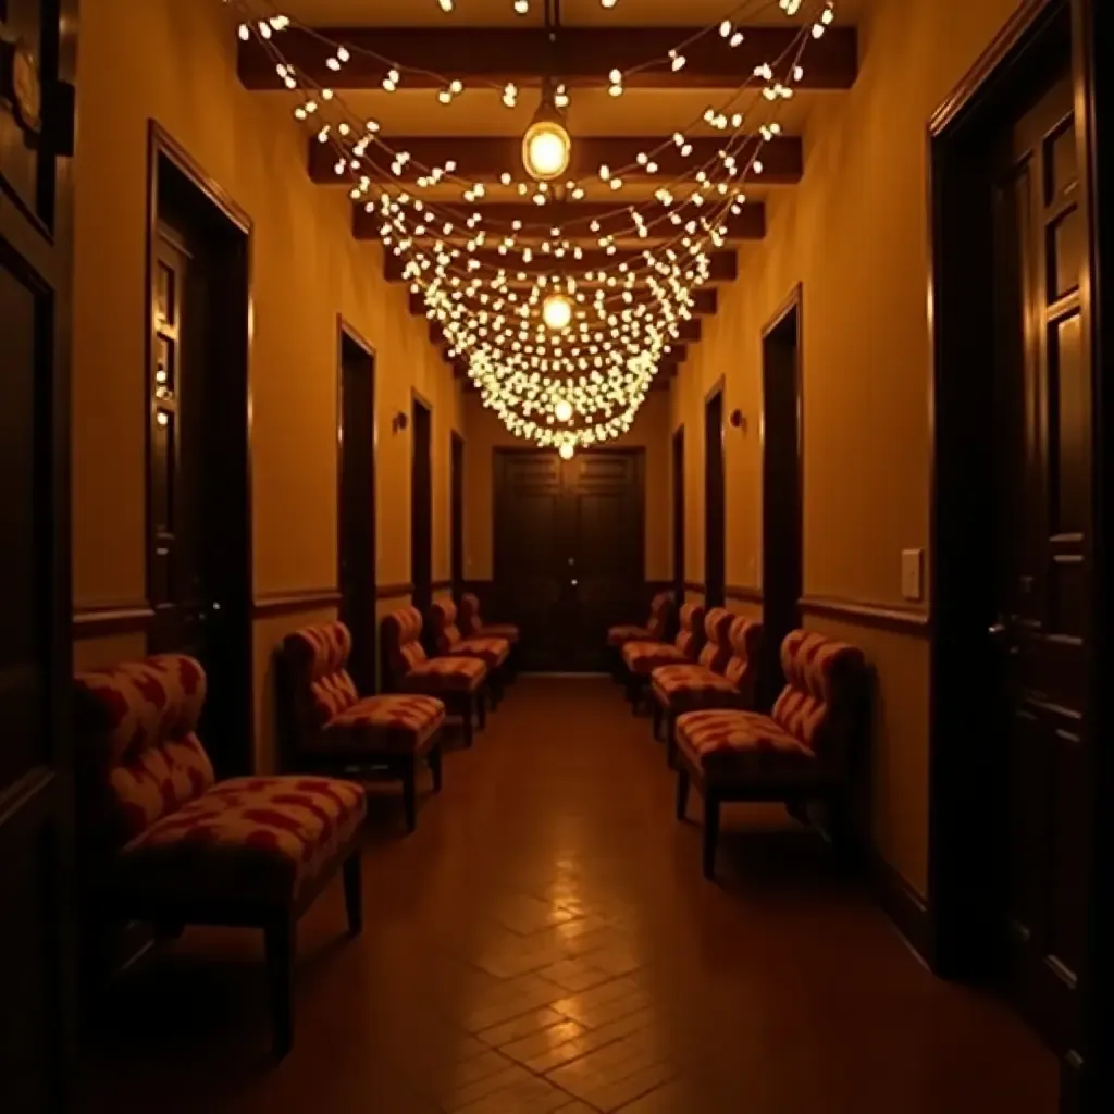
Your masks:
[{"label": "dark door frame behind the largest left chair, on the left wall", "polygon": [[[173,164],[175,169],[185,177],[190,185],[205,198],[213,209],[228,225],[228,229],[244,238],[245,267],[247,278],[246,307],[244,340],[244,421],[246,429],[244,432],[244,443],[246,447],[246,458],[244,460],[244,560],[245,568],[241,570],[243,576],[243,617],[242,622],[246,629],[242,632],[244,653],[246,659],[241,663],[242,678],[246,680],[246,685],[242,685],[245,691],[241,694],[240,715],[242,722],[246,724],[247,737],[242,747],[237,751],[236,760],[244,765],[244,772],[254,769],[255,761],[255,623],[254,590],[255,590],[255,560],[253,554],[253,536],[255,516],[253,511],[253,446],[252,437],[252,414],[253,414],[253,373],[255,367],[255,344],[253,321],[255,316],[255,236],[254,225],[247,211],[241,206],[232,195],[222,186],[216,178],[208,174],[204,167],[189,154],[189,152],[175,139],[170,133],[158,120],[150,118],[147,121],[147,214],[146,214],[146,256],[145,256],[145,299],[144,299],[144,397],[143,397],[143,420],[144,420],[144,534],[145,534],[145,563],[144,563],[144,594],[147,599],[149,613],[154,612],[152,599],[155,548],[152,531],[154,519],[154,491],[152,488],[152,424],[155,420],[154,405],[154,382],[152,381],[152,368],[154,367],[154,344],[155,344],[155,320],[152,304],[152,290],[155,280],[156,251],[158,244],[158,187],[159,187],[159,159],[165,158]],[[231,361],[229,361],[231,362]]]}]

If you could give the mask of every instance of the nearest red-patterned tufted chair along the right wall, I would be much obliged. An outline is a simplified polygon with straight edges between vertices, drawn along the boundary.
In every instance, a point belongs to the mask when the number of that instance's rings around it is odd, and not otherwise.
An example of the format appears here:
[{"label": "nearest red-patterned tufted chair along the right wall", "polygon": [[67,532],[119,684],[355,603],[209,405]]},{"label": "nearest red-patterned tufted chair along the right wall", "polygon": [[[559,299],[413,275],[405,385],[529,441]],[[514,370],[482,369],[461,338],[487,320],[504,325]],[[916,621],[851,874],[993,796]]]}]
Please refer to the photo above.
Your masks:
[{"label": "nearest red-patterned tufted chair along the right wall", "polygon": [[676,814],[685,819],[694,786],[704,799],[705,878],[715,872],[721,802],[784,801],[794,815],[811,800],[848,804],[851,751],[866,727],[862,652],[792,631],[781,666],[785,687],[770,715],[713,709],[676,721]]}]

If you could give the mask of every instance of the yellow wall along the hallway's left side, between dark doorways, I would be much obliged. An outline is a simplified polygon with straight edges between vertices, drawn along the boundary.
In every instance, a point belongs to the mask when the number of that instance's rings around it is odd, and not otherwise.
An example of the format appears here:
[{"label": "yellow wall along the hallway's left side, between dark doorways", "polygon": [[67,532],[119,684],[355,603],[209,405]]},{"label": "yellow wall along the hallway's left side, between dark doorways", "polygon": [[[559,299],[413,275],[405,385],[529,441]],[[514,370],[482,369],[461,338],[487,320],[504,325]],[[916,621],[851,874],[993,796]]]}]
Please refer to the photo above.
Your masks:
[{"label": "yellow wall along the hallway's left side, between dark doorways", "polygon": [[[244,90],[236,37],[213,0],[90,0],[81,11],[74,317],[77,609],[138,606],[144,585],[144,278],[147,127],[154,118],[253,222],[254,593],[336,584],[336,315],[377,352],[380,584],[410,579],[410,434],[391,417],[433,404],[433,576],[447,577],[448,430],[460,392],[353,241],[343,190],[310,183],[306,137],[281,95]],[[314,613],[256,624],[260,762],[271,761],[271,647]],[[105,659],[119,641],[80,647]]]}]

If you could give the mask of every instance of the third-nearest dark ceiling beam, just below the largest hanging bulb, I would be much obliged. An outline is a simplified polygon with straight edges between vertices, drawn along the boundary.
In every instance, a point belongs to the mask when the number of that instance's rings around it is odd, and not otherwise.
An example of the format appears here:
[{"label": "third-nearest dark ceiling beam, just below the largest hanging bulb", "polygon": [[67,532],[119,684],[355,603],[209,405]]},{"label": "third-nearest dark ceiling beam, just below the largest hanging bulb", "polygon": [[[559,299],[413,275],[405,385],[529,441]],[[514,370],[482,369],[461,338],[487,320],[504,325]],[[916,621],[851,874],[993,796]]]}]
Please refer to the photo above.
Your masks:
[{"label": "third-nearest dark ceiling beam, just below the largest hanging bulb", "polygon": [[[522,223],[522,231],[517,233],[519,243],[538,243],[546,238],[547,228],[567,229],[563,235],[575,244],[595,244],[599,236],[615,236],[619,241],[645,244],[647,247],[676,240],[678,228],[668,219],[663,219],[665,209],[643,209],[644,218],[652,222],[645,237],[637,237],[634,222],[626,211],[616,211],[614,205],[605,202],[556,202],[551,205],[516,205],[491,204],[475,207],[485,218],[498,222],[498,227],[510,229],[516,221]],[[684,211],[686,219],[695,214],[694,209]],[[599,231],[592,232],[590,223],[597,221]],[[382,218],[378,212],[368,213],[363,205],[354,205],[352,214],[352,233],[356,240],[379,240]],[[442,222],[443,223],[443,222]],[[539,225],[537,229],[530,225]],[[765,205],[762,202],[747,202],[737,216],[725,213],[717,222],[726,228],[727,243],[742,243],[747,240],[762,240],[765,236]],[[452,235],[444,237],[448,243],[463,243],[472,233],[461,223]],[[428,237],[432,243],[436,237]]]}]

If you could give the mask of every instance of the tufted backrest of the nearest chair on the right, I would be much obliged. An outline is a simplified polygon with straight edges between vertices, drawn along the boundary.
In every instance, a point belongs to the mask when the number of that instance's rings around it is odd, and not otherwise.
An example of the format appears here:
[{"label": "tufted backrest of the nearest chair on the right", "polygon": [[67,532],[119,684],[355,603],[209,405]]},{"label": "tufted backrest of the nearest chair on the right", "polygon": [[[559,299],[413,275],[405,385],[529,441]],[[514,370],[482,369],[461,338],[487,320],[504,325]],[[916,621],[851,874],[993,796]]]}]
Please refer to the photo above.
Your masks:
[{"label": "tufted backrest of the nearest chair on the right", "polygon": [[785,674],[771,713],[818,756],[842,761],[866,695],[862,651],[814,631],[790,631],[781,644]]}]

